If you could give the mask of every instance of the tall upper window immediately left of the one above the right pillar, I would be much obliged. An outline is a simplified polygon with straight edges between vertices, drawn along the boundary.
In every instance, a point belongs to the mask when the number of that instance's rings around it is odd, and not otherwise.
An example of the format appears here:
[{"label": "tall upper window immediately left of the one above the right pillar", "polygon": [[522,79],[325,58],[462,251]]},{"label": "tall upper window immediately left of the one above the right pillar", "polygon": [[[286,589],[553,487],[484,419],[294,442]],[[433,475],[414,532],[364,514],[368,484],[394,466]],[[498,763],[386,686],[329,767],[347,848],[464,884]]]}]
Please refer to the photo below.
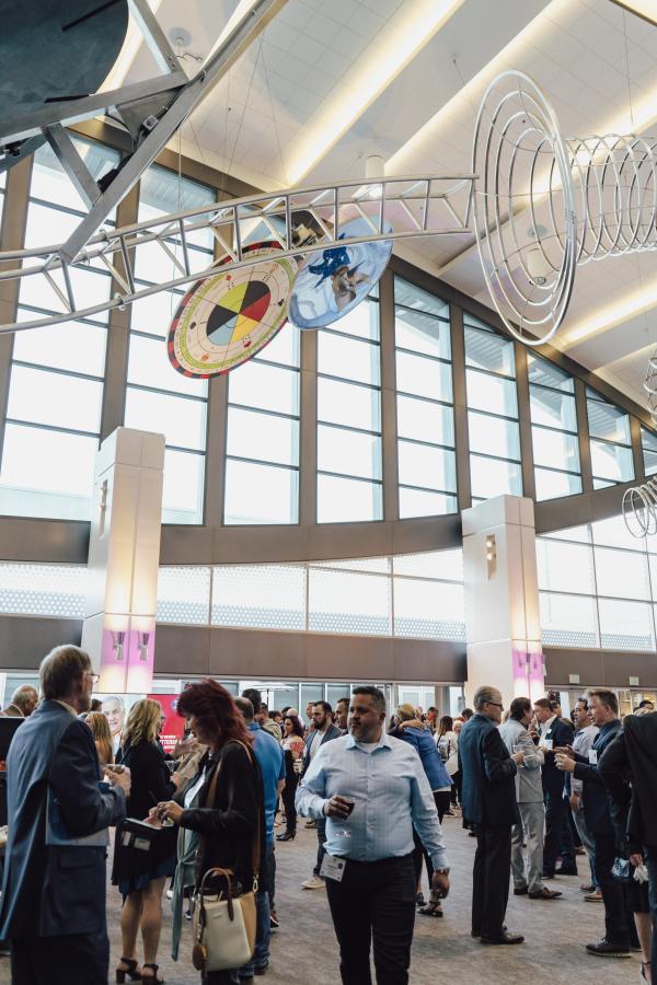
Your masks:
[{"label": "tall upper window immediately left of the one above the right pillar", "polygon": [[400,517],[457,510],[449,305],[394,279]]}]

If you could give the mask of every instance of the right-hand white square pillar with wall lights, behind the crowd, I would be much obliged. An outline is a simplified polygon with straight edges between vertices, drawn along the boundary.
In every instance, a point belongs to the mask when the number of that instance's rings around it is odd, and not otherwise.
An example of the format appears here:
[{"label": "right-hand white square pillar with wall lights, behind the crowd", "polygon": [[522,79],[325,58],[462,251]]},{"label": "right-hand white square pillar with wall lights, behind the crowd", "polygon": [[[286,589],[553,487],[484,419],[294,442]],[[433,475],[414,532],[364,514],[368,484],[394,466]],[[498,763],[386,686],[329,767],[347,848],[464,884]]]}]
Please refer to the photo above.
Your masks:
[{"label": "right-hand white square pillar with wall lights, behind the crowd", "polygon": [[544,696],[533,501],[497,496],[464,510],[466,702],[493,684],[511,698]]}]

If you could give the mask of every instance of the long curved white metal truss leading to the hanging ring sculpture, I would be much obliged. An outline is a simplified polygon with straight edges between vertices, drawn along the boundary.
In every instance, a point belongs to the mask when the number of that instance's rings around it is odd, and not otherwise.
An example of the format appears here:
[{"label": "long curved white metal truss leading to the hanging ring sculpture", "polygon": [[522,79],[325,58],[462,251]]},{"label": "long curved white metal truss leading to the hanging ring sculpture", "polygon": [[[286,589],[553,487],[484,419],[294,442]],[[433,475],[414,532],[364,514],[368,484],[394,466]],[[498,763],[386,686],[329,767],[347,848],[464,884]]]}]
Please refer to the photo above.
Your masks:
[{"label": "long curved white metal truss leading to the hanging ring sculpture", "polygon": [[[0,333],[56,325],[71,318],[93,317],[160,291],[183,288],[222,269],[253,266],[245,247],[274,241],[280,256],[303,256],[316,250],[381,240],[414,236],[472,234],[473,174],[413,175],[380,178],[376,184],[338,182],[254,195],[203,208],[174,212],[123,229],[104,229],[69,263],[58,244],[0,253],[0,281],[20,286],[28,278],[39,281],[39,293],[51,314],[0,325]],[[347,222],[362,220],[364,233],[343,239]],[[209,231],[215,255],[204,269],[191,263],[199,232]],[[149,264],[160,279],[141,283],[136,278],[139,256],[153,246],[162,263]],[[198,251],[194,254],[199,255]],[[74,271],[106,269],[119,290],[96,304],[79,297]]]}]

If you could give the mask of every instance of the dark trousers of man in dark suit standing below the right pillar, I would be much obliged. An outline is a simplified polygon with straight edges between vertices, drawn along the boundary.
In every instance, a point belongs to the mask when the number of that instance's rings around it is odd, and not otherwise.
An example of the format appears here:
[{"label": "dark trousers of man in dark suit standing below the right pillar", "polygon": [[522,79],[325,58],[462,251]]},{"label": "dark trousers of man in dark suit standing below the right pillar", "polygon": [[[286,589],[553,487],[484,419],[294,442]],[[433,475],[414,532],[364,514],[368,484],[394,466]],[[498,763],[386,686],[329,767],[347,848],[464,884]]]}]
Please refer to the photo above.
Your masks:
[{"label": "dark trousers of man in dark suit standing below the right pillar", "polygon": [[472,872],[472,932],[502,937],[509,900],[511,827],[475,824],[476,851]]}]

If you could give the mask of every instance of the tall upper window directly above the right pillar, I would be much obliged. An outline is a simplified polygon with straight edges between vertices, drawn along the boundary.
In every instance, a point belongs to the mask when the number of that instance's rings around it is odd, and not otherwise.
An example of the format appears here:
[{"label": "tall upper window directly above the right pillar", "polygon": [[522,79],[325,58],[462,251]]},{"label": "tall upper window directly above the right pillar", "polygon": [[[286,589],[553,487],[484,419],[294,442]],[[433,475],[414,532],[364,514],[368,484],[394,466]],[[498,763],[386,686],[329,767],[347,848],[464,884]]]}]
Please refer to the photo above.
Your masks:
[{"label": "tall upper window directly above the right pillar", "polygon": [[514,344],[463,313],[473,502],[522,496]]}]

